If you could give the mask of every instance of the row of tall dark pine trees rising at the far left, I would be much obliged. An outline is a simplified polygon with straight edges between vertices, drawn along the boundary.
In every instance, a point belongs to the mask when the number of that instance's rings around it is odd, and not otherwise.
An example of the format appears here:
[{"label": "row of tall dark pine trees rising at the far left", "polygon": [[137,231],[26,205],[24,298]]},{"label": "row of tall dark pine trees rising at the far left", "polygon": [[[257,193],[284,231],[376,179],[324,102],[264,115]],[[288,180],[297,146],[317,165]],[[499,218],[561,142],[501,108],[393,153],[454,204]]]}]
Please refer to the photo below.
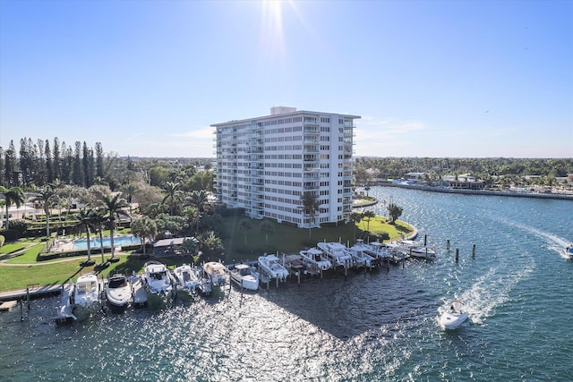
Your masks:
[{"label": "row of tall dark pine trees rising at the far left", "polygon": [[50,140],[22,138],[18,152],[13,140],[7,149],[0,147],[0,185],[4,187],[55,182],[90,187],[104,174],[104,152],[99,142],[92,149],[85,141],[72,146],[54,138],[50,145]]}]

